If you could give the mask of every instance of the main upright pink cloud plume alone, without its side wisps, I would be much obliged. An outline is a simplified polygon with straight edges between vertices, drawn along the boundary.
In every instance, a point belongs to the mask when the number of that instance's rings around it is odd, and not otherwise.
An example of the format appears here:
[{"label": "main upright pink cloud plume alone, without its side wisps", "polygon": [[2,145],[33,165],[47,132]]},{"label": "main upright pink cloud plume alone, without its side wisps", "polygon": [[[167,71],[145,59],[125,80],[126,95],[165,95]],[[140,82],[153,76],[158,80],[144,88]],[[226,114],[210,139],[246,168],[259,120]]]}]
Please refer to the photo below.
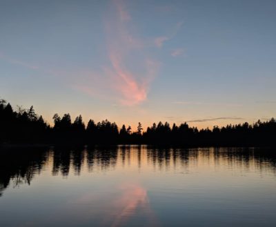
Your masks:
[{"label": "main upright pink cloud plume alone, without its side wisps", "polygon": [[[133,23],[124,1],[113,1],[118,17],[107,21],[108,56],[112,67],[106,72],[112,78],[112,87],[119,93],[119,102],[125,106],[137,105],[147,99],[150,83],[155,77],[158,63],[144,52],[143,41],[130,32]],[[132,29],[133,30],[133,29]],[[133,70],[135,61],[141,70]]]}]

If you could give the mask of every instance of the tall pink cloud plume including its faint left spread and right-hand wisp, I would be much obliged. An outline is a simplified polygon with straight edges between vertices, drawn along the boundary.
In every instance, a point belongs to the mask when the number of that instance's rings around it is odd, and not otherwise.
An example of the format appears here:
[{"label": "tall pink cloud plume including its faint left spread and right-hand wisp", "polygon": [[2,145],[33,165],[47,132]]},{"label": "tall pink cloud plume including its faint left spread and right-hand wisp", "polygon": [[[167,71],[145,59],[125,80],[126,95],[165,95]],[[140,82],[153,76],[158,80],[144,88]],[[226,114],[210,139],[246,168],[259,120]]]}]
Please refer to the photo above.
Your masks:
[{"label": "tall pink cloud plume including its faint left spread and right-hand wisp", "polygon": [[81,69],[64,76],[72,88],[87,95],[112,100],[121,106],[136,106],[148,99],[150,85],[160,65],[146,48],[164,46],[166,41],[175,37],[182,22],[173,26],[168,35],[144,40],[135,29],[134,19],[125,3],[113,0],[107,14],[103,15],[109,62],[97,72]]}]

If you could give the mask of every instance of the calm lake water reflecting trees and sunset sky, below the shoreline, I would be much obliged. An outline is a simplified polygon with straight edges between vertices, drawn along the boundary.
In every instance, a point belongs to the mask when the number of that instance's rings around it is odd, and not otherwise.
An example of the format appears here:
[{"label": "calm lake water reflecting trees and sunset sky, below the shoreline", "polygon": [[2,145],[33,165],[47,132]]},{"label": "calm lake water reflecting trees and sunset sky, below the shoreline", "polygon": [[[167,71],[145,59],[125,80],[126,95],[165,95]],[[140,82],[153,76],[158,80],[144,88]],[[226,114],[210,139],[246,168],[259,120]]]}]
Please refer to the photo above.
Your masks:
[{"label": "calm lake water reflecting trees and sunset sky, below the shoreline", "polygon": [[0,226],[276,226],[276,150],[0,152]]}]

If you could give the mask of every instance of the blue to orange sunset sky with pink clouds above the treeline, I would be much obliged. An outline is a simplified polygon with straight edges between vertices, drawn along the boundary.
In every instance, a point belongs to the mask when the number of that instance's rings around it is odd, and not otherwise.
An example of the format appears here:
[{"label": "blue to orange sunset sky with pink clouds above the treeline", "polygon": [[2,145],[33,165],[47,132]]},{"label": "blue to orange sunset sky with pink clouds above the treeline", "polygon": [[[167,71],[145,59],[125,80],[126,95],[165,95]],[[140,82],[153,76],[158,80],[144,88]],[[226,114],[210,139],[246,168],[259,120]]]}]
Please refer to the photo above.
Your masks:
[{"label": "blue to orange sunset sky with pink clouds above the treeline", "polygon": [[276,1],[0,0],[0,98],[52,124],[276,116]]}]

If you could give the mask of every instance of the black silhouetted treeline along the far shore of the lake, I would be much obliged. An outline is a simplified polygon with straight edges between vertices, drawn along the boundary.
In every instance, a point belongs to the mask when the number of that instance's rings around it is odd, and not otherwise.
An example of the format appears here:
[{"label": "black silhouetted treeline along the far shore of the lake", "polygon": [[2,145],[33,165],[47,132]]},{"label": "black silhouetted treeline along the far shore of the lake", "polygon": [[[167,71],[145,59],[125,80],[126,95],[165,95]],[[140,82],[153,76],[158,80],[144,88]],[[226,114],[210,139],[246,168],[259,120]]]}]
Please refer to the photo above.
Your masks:
[{"label": "black silhouetted treeline along the far shore of the lake", "polygon": [[136,130],[130,126],[104,120],[87,126],[81,115],[72,122],[69,114],[53,116],[54,126],[47,124],[34,108],[26,110],[0,100],[0,144],[61,144],[61,145],[110,145],[152,144],[179,146],[275,146],[276,121],[257,121],[255,124],[235,124],[219,128],[214,126],[198,130],[182,123],[179,126],[168,122],[153,124],[146,131],[138,124]]}]

